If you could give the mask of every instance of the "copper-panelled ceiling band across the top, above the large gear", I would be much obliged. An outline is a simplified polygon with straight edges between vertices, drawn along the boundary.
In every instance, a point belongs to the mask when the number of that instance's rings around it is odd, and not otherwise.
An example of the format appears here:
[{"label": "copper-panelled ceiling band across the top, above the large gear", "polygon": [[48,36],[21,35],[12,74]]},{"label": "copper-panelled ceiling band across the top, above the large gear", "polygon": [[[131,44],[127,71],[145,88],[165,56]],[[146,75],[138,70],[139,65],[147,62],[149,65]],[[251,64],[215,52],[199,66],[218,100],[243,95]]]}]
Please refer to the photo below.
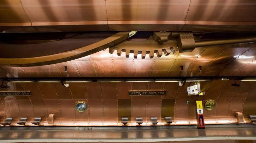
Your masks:
[{"label": "copper-panelled ceiling band across the top, above the large gear", "polygon": [[255,7],[254,0],[1,0],[0,31],[255,31]]}]

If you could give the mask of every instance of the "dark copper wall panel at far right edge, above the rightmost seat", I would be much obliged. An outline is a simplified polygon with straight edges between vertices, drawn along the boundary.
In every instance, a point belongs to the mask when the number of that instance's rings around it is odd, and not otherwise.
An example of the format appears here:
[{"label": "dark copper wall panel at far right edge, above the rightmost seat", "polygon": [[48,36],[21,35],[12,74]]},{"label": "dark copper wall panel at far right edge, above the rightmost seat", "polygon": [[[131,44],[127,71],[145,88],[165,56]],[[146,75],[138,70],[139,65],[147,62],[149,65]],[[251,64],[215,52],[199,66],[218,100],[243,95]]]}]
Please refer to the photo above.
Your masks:
[{"label": "dark copper wall panel at far right edge, above the rightmost seat", "polygon": [[244,115],[255,115],[256,114],[256,98],[246,98],[244,103]]}]

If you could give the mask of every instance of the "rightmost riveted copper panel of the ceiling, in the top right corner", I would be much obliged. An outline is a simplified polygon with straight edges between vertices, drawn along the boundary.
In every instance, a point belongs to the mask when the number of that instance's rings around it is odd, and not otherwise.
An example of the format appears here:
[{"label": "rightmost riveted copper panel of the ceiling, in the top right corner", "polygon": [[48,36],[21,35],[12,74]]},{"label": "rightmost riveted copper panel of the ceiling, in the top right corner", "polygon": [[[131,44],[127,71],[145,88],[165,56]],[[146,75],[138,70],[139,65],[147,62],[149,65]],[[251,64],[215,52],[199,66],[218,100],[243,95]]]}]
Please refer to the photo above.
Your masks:
[{"label": "rightmost riveted copper panel of the ceiling, in the top right corner", "polygon": [[[255,7],[253,1],[245,0],[225,1],[195,0],[190,3],[187,21],[255,21]],[[248,12],[244,15],[242,13]]]}]

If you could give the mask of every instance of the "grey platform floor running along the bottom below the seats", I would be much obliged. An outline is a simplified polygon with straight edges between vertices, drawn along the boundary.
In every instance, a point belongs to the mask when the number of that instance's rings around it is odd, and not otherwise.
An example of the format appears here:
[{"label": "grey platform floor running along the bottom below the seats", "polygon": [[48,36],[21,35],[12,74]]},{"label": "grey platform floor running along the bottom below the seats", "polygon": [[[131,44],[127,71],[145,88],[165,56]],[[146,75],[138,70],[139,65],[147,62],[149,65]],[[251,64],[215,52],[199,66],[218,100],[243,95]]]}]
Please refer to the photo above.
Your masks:
[{"label": "grey platform floor running along the bottom below the seats", "polygon": [[[163,127],[0,127],[0,142],[256,143],[256,125]],[[253,140],[253,141],[252,141]],[[246,141],[247,142],[247,141]],[[242,141],[241,141],[242,143]]]}]

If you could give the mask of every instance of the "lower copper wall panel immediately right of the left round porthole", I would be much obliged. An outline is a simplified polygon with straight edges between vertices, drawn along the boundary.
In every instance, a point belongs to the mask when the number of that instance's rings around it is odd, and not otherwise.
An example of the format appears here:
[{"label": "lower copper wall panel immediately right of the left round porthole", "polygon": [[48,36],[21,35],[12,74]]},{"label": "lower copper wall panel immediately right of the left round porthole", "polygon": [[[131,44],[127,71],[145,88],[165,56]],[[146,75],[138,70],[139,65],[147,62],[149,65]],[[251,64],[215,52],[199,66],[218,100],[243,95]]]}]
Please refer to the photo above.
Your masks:
[{"label": "lower copper wall panel immediately right of the left round porthole", "polygon": [[90,104],[90,122],[92,125],[102,125],[104,123],[104,101],[101,99],[88,99]]}]

